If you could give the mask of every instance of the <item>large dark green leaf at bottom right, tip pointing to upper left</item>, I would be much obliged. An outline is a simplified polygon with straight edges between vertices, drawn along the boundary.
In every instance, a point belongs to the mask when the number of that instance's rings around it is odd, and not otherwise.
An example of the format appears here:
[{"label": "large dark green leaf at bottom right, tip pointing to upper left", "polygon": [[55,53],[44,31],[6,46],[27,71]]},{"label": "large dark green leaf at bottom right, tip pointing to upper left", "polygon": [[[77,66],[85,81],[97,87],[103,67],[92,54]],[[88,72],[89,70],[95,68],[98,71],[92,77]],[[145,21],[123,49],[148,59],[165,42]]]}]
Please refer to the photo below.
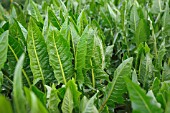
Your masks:
[{"label": "large dark green leaf at bottom right, tip pointing to upper left", "polygon": [[133,113],[162,113],[162,109],[153,101],[153,98],[147,96],[145,91],[139,85],[125,78],[127,89],[132,103]]}]

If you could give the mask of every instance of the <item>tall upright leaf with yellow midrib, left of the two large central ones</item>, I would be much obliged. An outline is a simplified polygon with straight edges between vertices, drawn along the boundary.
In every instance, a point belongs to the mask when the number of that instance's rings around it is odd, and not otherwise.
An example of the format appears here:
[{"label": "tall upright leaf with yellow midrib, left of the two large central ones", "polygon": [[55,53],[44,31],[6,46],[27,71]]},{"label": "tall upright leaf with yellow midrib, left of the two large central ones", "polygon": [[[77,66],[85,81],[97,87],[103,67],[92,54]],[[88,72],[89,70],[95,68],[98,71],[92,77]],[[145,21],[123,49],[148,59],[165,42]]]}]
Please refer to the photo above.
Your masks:
[{"label": "tall upright leaf with yellow midrib, left of the two large central ones", "polygon": [[30,18],[28,25],[27,49],[34,76],[33,84],[36,84],[39,80],[42,80],[44,85],[45,82],[54,81],[44,38],[32,18]]}]

